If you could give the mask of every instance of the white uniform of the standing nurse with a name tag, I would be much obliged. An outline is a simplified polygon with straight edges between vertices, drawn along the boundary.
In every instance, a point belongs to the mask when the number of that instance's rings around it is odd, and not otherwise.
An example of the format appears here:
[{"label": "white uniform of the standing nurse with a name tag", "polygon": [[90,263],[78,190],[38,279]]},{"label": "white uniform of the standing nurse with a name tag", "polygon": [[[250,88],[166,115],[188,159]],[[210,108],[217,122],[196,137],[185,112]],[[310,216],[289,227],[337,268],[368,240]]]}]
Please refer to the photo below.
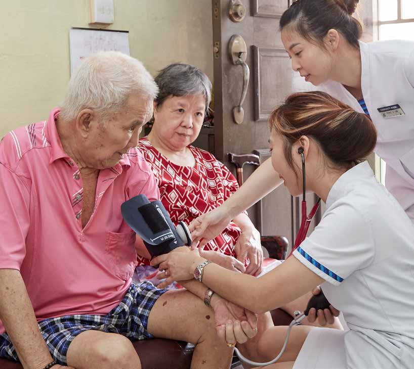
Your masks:
[{"label": "white uniform of the standing nurse with a name tag", "polygon": [[[359,44],[362,94],[378,130],[375,152],[387,163],[387,189],[414,221],[414,42]],[[328,81],[320,89],[363,113],[341,83]],[[394,104],[399,104],[405,115],[383,118],[378,109]]]}]

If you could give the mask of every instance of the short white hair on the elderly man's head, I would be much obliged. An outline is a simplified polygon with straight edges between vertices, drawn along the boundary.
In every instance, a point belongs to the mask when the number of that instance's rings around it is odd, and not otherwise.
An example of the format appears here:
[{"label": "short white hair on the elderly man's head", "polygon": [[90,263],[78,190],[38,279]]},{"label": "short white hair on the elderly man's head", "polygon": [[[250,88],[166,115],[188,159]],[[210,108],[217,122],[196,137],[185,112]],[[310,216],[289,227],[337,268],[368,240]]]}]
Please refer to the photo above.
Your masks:
[{"label": "short white hair on the elderly man's head", "polygon": [[85,58],[71,76],[60,116],[72,120],[82,109],[89,108],[105,120],[125,107],[134,93],[151,101],[158,93],[142,63],[119,52],[99,52]]}]

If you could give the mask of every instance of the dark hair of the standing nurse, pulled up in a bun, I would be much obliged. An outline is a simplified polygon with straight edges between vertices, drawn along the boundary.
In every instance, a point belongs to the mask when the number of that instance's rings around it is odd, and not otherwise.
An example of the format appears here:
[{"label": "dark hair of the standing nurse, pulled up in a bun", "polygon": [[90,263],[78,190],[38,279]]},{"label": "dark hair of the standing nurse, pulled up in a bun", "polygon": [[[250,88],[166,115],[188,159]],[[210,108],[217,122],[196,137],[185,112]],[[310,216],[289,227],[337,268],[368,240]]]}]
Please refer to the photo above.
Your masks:
[{"label": "dark hair of the standing nurse, pulled up in a bun", "polygon": [[352,16],[359,0],[297,0],[280,18],[280,30],[290,26],[307,40],[323,45],[330,29],[336,29],[355,48],[362,36],[361,23]]}]

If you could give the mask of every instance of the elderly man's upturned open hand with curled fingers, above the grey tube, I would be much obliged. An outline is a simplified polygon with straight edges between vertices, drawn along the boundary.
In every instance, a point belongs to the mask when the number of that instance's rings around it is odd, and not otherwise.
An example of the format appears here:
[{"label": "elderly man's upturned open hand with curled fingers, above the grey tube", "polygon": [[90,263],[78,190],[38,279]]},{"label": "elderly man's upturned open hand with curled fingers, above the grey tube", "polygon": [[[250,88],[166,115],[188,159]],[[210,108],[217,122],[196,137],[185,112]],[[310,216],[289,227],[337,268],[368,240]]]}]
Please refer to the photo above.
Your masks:
[{"label": "elderly man's upturned open hand with curled fingers, above the grey tube", "polygon": [[245,343],[257,334],[258,315],[214,294],[211,301],[218,336],[228,344]]}]

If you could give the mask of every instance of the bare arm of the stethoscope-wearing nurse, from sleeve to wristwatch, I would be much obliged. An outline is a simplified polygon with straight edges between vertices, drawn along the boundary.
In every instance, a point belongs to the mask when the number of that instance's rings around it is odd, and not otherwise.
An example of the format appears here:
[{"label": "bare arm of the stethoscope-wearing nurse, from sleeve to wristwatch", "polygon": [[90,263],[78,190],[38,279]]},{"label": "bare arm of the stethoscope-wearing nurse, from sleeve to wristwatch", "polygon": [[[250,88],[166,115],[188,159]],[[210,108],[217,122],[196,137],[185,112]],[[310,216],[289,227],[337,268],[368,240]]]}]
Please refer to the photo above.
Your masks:
[{"label": "bare arm of the stethoscope-wearing nurse, from sleeve to wristwatch", "polygon": [[324,281],[294,256],[261,278],[233,272],[214,263],[204,267],[202,278],[202,283],[220,296],[256,313],[296,300]]}]

